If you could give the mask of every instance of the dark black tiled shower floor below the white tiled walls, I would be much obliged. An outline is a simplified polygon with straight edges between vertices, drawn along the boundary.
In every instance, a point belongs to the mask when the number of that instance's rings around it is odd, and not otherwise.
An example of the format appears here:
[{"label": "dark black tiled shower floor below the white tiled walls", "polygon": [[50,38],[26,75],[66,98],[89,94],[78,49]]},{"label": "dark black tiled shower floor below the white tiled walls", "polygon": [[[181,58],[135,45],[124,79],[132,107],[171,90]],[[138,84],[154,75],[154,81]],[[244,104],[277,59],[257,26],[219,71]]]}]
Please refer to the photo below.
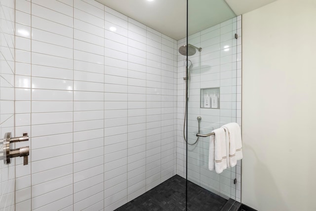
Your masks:
[{"label": "dark black tiled shower floor below the white tiled walls", "polygon": [[[221,211],[227,200],[188,181],[188,211]],[[186,179],[175,175],[116,211],[185,211]]]}]

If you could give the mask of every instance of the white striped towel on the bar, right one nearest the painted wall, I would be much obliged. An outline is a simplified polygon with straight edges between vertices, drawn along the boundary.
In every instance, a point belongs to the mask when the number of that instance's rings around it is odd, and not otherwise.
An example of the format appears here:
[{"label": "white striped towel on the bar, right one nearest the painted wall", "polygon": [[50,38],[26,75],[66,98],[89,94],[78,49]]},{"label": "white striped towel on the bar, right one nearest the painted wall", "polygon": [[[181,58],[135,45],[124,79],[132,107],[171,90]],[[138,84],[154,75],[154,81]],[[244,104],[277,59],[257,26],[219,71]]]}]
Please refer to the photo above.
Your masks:
[{"label": "white striped towel on the bar, right one nearest the painted wall", "polygon": [[[241,131],[237,123],[229,123],[222,126],[229,135],[229,166],[234,167],[237,160],[242,159]],[[227,134],[227,133],[226,133]]]}]

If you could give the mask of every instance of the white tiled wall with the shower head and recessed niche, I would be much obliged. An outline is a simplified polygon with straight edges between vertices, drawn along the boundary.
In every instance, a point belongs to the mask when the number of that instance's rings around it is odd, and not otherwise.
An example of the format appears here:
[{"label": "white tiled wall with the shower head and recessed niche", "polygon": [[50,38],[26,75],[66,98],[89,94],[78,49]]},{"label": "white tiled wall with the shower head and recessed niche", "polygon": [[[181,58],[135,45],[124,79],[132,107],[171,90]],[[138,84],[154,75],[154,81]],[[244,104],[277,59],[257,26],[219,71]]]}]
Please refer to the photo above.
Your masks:
[{"label": "white tiled wall with the shower head and recessed niche", "polygon": [[[235,33],[238,35],[237,40]],[[204,134],[230,122],[237,122],[241,126],[241,16],[191,35],[188,41],[203,48],[200,53],[189,56],[192,66],[188,142],[194,143],[197,139],[197,116],[202,117],[200,133]],[[186,39],[179,40],[178,48],[186,43]],[[186,144],[183,139],[185,59],[178,53],[177,174],[183,177],[186,176]],[[220,87],[220,109],[200,108],[200,88],[209,87]],[[224,198],[240,202],[241,162],[221,174],[209,171],[208,147],[209,137],[200,137],[195,146],[188,146],[188,179]],[[234,184],[235,178],[237,184]]]}]

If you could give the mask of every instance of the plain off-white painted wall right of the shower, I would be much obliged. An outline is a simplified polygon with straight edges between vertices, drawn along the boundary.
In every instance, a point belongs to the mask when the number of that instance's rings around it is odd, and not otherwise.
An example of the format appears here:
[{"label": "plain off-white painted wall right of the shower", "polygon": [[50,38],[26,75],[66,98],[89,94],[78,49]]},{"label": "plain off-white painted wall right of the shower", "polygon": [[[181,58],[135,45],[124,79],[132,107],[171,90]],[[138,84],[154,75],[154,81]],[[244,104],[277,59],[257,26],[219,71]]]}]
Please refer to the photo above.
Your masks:
[{"label": "plain off-white painted wall right of the shower", "polygon": [[242,16],[242,203],[315,210],[316,1]]}]

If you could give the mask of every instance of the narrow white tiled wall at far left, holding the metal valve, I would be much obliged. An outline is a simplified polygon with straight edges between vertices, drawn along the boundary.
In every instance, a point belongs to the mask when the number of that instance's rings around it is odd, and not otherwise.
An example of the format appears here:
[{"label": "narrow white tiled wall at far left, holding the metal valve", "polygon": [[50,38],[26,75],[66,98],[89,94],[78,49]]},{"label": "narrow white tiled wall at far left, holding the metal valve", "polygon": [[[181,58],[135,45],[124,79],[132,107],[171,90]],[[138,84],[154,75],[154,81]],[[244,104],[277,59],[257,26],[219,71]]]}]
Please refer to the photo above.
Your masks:
[{"label": "narrow white tiled wall at far left, holding the metal valve", "polygon": [[[14,134],[14,0],[0,0],[0,139]],[[1,141],[2,142],[2,141]],[[0,152],[3,145],[0,143]],[[15,159],[0,161],[0,211],[14,211]],[[18,185],[18,184],[17,184]]]}]

